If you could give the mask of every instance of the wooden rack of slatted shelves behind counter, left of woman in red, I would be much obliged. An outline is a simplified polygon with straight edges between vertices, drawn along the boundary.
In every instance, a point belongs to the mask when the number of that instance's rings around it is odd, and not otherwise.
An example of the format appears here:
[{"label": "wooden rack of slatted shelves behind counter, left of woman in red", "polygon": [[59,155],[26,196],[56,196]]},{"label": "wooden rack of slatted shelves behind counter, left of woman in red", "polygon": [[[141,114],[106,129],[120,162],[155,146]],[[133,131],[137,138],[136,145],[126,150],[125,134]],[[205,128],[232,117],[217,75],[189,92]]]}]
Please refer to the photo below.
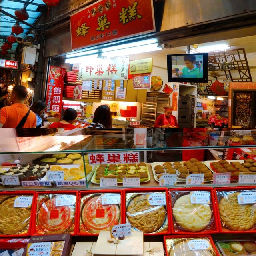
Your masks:
[{"label": "wooden rack of slatted shelves behind counter, left of woman in red", "polygon": [[142,124],[154,127],[158,115],[164,114],[163,107],[169,104],[169,94],[163,92],[147,92],[147,100],[142,103]]}]

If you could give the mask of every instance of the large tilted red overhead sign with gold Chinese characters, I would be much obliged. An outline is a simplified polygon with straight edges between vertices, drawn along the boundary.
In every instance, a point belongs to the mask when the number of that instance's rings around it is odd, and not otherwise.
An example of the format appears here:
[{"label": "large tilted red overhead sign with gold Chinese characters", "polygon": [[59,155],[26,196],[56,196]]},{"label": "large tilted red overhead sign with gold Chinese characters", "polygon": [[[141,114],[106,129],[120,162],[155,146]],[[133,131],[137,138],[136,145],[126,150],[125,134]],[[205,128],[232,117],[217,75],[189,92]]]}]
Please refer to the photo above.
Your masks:
[{"label": "large tilted red overhead sign with gold Chinese characters", "polygon": [[100,0],[70,16],[72,49],[155,31],[152,0]]}]

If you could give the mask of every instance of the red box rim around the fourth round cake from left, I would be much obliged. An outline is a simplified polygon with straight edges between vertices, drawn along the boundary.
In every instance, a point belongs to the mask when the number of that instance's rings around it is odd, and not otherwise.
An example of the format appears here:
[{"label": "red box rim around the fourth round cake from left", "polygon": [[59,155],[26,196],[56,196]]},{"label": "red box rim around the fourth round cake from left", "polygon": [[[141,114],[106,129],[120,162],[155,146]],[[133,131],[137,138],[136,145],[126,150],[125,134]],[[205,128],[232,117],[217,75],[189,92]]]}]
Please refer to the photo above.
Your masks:
[{"label": "red box rim around the fourth round cake from left", "polygon": [[167,230],[158,233],[144,233],[144,236],[156,236],[156,235],[164,235],[171,234],[171,220],[170,220],[170,206],[168,200],[168,189],[167,188],[126,188],[124,189],[123,194],[123,220],[126,223],[126,194],[127,193],[152,193],[152,192],[165,192],[166,194],[166,218],[168,220]]}]

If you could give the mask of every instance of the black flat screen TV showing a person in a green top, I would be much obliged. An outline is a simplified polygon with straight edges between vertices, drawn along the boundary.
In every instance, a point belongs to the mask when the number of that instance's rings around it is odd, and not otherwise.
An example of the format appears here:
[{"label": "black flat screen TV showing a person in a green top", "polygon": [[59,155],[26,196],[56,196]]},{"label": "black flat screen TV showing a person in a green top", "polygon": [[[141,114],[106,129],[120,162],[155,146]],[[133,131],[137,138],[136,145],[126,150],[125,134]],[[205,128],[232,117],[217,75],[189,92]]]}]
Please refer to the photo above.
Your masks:
[{"label": "black flat screen TV showing a person in a green top", "polygon": [[208,82],[208,53],[167,54],[168,82]]}]

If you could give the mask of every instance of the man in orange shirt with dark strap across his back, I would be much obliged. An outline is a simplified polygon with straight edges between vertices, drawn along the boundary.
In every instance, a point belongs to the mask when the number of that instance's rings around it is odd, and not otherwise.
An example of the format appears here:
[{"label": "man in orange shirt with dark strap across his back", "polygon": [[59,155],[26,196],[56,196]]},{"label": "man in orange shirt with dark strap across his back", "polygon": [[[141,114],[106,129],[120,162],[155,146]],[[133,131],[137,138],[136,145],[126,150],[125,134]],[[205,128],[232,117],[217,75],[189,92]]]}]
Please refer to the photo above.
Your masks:
[{"label": "man in orange shirt with dark strap across his back", "polygon": [[14,86],[10,98],[12,106],[1,108],[1,128],[36,128],[36,114],[24,104],[27,94],[25,86]]}]

